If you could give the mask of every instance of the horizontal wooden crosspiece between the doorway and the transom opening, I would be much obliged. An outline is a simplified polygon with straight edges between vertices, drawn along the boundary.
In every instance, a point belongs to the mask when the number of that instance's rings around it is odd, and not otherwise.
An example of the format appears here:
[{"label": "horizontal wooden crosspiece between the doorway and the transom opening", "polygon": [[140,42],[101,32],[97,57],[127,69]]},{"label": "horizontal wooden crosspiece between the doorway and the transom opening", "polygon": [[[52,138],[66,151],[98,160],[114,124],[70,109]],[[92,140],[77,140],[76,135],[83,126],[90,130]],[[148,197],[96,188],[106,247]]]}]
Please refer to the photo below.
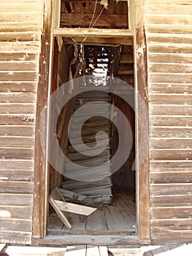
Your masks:
[{"label": "horizontal wooden crosspiece between the doorway and the transom opening", "polygon": [[82,29],[82,28],[60,28],[53,29],[55,37],[128,37],[133,36],[133,31],[129,29]]}]

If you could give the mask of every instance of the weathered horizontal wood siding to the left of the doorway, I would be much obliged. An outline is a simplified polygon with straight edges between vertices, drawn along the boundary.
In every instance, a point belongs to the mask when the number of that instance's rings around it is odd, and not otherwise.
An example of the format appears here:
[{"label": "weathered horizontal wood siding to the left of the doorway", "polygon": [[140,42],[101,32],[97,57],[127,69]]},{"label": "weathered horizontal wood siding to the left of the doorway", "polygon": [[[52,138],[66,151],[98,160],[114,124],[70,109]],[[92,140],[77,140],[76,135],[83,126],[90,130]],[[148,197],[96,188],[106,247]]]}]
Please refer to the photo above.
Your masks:
[{"label": "weathered horizontal wood siding to the left of the doorway", "polygon": [[31,243],[42,1],[0,1],[0,242]]}]

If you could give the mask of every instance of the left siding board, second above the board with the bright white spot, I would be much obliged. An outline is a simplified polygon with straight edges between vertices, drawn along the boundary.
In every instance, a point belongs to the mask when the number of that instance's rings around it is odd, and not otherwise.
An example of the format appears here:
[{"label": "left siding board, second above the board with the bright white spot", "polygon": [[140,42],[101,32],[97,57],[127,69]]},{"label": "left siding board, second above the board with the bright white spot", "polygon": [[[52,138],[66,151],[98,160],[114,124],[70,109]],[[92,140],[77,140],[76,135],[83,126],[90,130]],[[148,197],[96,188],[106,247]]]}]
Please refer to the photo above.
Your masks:
[{"label": "left siding board, second above the board with the bright white spot", "polygon": [[28,181],[0,181],[0,185],[0,193],[31,194],[33,192],[33,183]]}]

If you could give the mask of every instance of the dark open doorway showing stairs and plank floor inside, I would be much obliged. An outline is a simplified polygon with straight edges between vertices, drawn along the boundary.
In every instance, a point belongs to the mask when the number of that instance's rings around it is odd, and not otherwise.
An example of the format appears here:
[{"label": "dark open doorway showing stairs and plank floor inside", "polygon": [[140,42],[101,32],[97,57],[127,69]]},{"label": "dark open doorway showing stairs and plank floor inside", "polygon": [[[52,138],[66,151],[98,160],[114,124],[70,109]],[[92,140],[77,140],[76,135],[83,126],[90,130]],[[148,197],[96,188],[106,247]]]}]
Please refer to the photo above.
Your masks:
[{"label": "dark open doorway showing stairs and plank floor inside", "polygon": [[[60,50],[58,51],[58,40],[60,40]],[[66,83],[70,78],[84,77],[84,83],[80,87],[94,87],[94,91],[85,91],[73,97],[67,105],[61,110],[57,120],[57,138],[64,151],[64,154],[80,167],[74,170],[72,165],[62,162],[63,159],[57,159],[57,152],[53,152],[55,161],[61,161],[64,173],[58,173],[50,166],[50,192],[54,187],[61,189],[62,194],[68,203],[76,205],[91,206],[97,208],[88,217],[80,214],[67,213],[66,218],[72,225],[69,230],[64,222],[58,218],[53,208],[50,207],[50,219],[48,224],[48,233],[117,233],[134,234],[135,233],[135,172],[132,171],[134,165],[134,142],[131,153],[127,156],[126,162],[117,172],[111,172],[111,166],[108,163],[118,149],[118,129],[110,121],[112,109],[106,103],[117,106],[126,115],[134,134],[134,110],[115,94],[115,91],[107,92],[105,89],[110,85],[111,76],[120,78],[134,87],[134,62],[132,45],[94,45],[79,44],[78,41],[66,43],[66,38],[55,39],[55,56],[53,64],[53,91]],[[79,39],[81,41],[81,39]],[[103,39],[104,40],[104,39]],[[62,46],[61,46],[62,45]],[[77,56],[74,59],[74,56]],[[56,75],[55,75],[56,74]],[[130,94],[129,97],[134,100],[134,93],[123,83],[116,84],[121,94]],[[69,91],[69,90],[66,90]],[[64,91],[64,97],[65,93]],[[82,142],[93,151],[91,147],[96,145],[96,133],[104,131],[106,138],[101,138],[101,153],[96,156],[87,156],[86,151],[78,152],[72,146],[69,140],[68,125],[69,119],[80,110],[82,106],[90,102],[98,102],[96,110],[99,110],[101,116],[94,116],[94,109],[88,108],[83,114],[79,113],[72,117],[69,133],[74,138],[74,145],[81,147]],[[58,102],[55,102],[57,108]],[[91,118],[82,126],[82,142],[76,138],[78,124],[86,115]],[[108,118],[102,115],[108,115]],[[121,122],[121,120],[118,120]],[[123,123],[122,123],[123,124]],[[125,129],[125,136],[127,128]],[[107,143],[107,144],[106,144]],[[107,146],[106,146],[107,145]],[[96,153],[97,150],[94,150]],[[102,165],[102,166],[101,166]],[[91,170],[85,170],[85,167],[91,167]],[[72,178],[72,172],[77,173],[77,178]],[[67,191],[67,195],[65,194]],[[69,192],[74,193],[75,198],[70,197]],[[78,206],[77,206],[78,208]],[[102,231],[101,231],[102,230]]]}]

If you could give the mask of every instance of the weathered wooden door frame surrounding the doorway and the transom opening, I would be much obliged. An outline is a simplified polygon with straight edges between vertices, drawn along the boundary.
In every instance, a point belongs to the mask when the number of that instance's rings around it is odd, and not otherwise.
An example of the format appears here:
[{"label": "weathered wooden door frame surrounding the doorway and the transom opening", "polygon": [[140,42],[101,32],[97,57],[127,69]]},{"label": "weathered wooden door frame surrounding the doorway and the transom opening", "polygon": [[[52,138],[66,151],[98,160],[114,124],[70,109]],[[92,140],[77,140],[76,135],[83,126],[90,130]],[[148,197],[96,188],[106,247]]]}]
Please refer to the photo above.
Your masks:
[{"label": "weathered wooden door frame surrounding the doorway and the transom opening", "polygon": [[[39,136],[39,121],[41,118],[42,109],[50,95],[50,84],[53,62],[53,39],[55,36],[73,35],[76,34],[86,36],[86,29],[59,29],[60,4],[59,0],[44,0],[44,15],[42,23],[42,46],[39,59],[39,83],[37,89],[37,116],[36,116],[36,132],[35,132],[35,157],[34,157],[34,211],[33,211],[33,244],[49,244],[50,241],[45,239],[47,231],[47,197],[48,197],[48,172],[47,159],[42,151],[40,136]],[[54,10],[54,12],[52,12]],[[134,37],[134,73],[135,83],[142,99],[147,105],[147,53],[145,40],[145,0],[130,0],[129,10],[132,13],[131,28],[128,30],[115,30],[115,37]],[[133,22],[134,20],[134,22]],[[100,31],[100,32],[99,32]],[[110,37],[112,30],[104,29],[89,29],[88,35]],[[108,33],[108,34],[107,34]],[[137,101],[137,96],[136,96]],[[142,111],[139,111],[142,116]],[[142,121],[148,129],[148,116],[142,116]],[[138,124],[136,125],[136,140],[139,148],[139,140],[141,132]],[[145,138],[145,143],[149,145],[149,138]],[[139,149],[141,150],[141,148]],[[149,182],[149,157],[145,158],[142,165],[137,170],[137,236],[126,236],[112,240],[108,244],[147,244],[150,242],[150,182]],[[66,236],[65,236],[66,238]],[[107,238],[107,236],[106,236]],[[115,238],[115,236],[114,236]],[[45,239],[45,240],[44,240]],[[67,240],[68,244],[72,244],[72,239]],[[99,239],[99,236],[98,236]],[[53,239],[54,240],[54,239]],[[59,240],[59,238],[58,238]],[[61,239],[62,240],[62,239]],[[104,239],[105,240],[105,239]],[[63,244],[66,241],[63,241]],[[75,241],[74,241],[75,243]],[[77,241],[76,241],[77,243]],[[96,244],[99,240],[95,241]],[[55,244],[59,244],[55,240]],[[94,244],[94,243],[93,243]],[[106,243],[105,243],[106,244]]]}]

